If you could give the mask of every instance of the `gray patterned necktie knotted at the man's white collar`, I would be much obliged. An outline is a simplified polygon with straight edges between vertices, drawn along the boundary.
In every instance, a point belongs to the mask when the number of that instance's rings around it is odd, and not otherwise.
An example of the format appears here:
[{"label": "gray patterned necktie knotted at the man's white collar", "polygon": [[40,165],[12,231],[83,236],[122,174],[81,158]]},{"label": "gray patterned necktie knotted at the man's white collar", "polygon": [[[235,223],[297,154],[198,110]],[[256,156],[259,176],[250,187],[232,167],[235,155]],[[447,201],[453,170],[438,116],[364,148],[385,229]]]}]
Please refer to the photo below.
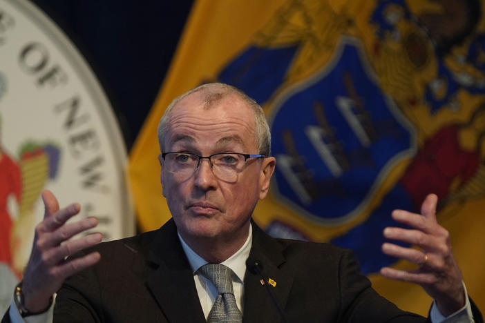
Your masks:
[{"label": "gray patterned necktie knotted at the man's white collar", "polygon": [[242,315],[236,304],[232,289],[231,268],[222,264],[205,264],[199,268],[200,273],[216,286],[218,295],[214,302],[208,323],[241,323]]}]

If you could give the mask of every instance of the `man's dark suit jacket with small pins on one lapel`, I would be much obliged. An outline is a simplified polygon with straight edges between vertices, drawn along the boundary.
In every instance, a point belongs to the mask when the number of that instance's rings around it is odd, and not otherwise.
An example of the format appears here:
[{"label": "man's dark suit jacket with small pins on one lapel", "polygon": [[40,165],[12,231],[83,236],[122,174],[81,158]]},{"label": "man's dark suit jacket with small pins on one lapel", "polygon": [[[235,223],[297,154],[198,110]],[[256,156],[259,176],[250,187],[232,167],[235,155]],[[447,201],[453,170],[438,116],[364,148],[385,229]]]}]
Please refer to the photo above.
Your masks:
[{"label": "man's dark suit jacket with small pins on one lapel", "polygon": [[[273,239],[253,228],[251,257],[276,282],[271,288],[289,322],[426,322],[378,295],[350,251]],[[173,220],[95,250],[102,260],[57,294],[54,322],[205,322]],[[264,288],[246,272],[244,322],[280,322]]]}]

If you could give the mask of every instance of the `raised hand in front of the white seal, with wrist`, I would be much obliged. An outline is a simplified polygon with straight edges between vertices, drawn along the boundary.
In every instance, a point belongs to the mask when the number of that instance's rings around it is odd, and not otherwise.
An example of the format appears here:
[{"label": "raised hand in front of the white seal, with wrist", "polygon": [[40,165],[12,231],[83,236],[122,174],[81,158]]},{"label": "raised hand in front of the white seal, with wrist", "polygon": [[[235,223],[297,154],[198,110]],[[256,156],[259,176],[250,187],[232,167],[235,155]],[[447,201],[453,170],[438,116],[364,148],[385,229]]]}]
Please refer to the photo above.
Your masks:
[{"label": "raised hand in front of the white seal, with wrist", "polygon": [[101,242],[102,235],[93,233],[70,239],[78,233],[97,226],[95,217],[87,217],[66,224],[79,213],[79,204],[70,204],[59,209],[56,197],[49,190],[42,192],[45,213],[44,221],[35,228],[34,244],[27,268],[23,273],[24,305],[28,311],[40,312],[49,306],[50,297],[59,290],[67,277],[99,261],[99,253],[90,253],[74,260],[66,257]]}]

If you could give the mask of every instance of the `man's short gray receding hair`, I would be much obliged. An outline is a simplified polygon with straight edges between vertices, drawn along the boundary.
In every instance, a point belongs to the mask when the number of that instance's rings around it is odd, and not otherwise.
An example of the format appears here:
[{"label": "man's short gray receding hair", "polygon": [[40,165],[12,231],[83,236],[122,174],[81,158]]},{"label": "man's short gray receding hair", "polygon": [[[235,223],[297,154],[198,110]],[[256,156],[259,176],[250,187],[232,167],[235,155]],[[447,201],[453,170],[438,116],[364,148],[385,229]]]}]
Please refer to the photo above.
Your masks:
[{"label": "man's short gray receding hair", "polygon": [[230,86],[229,84],[223,83],[207,83],[202,84],[196,88],[193,88],[184,94],[175,97],[173,101],[167,106],[165,109],[164,114],[162,115],[162,119],[158,123],[157,135],[158,135],[158,144],[160,145],[160,151],[164,152],[164,139],[165,135],[169,130],[169,117],[171,115],[171,111],[173,108],[180,102],[184,97],[191,95],[194,92],[198,92],[201,90],[209,91],[209,95],[206,98],[206,101],[211,101],[214,98],[220,99],[225,95],[235,94],[240,97],[246,104],[251,108],[254,114],[254,120],[256,121],[256,140],[258,141],[258,153],[261,155],[269,156],[271,154],[271,133],[269,132],[269,126],[266,120],[265,112],[261,106],[248,97],[245,92],[242,92],[238,88],[234,86]]}]

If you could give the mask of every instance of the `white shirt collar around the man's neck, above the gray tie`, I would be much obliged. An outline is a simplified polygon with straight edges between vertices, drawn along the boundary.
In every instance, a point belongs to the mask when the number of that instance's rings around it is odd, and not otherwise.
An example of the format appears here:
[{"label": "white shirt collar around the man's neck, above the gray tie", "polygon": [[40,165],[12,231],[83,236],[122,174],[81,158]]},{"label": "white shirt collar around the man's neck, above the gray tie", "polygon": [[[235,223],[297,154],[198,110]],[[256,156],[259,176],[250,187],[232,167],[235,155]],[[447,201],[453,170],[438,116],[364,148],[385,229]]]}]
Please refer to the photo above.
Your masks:
[{"label": "white shirt collar around the man's neck, above the gray tie", "polygon": [[[180,233],[178,233],[178,239],[180,239],[180,244],[182,244],[182,248],[184,249],[184,253],[187,256],[187,259],[189,260],[189,264],[192,268],[193,274],[196,274],[196,271],[198,268],[201,266],[204,266],[208,262],[200,257],[195,251],[192,250],[189,245],[184,242],[184,239],[180,236]],[[234,255],[231,255],[231,257],[227,258],[224,262],[221,262],[221,264],[228,266],[231,268],[232,271],[236,274],[236,276],[239,278],[241,282],[244,282],[244,275],[246,273],[246,260],[247,257],[249,257],[249,252],[251,251],[251,244],[253,242],[253,227],[251,224],[249,224],[249,235],[247,235],[246,242],[242,245],[242,247],[234,253]]]}]

